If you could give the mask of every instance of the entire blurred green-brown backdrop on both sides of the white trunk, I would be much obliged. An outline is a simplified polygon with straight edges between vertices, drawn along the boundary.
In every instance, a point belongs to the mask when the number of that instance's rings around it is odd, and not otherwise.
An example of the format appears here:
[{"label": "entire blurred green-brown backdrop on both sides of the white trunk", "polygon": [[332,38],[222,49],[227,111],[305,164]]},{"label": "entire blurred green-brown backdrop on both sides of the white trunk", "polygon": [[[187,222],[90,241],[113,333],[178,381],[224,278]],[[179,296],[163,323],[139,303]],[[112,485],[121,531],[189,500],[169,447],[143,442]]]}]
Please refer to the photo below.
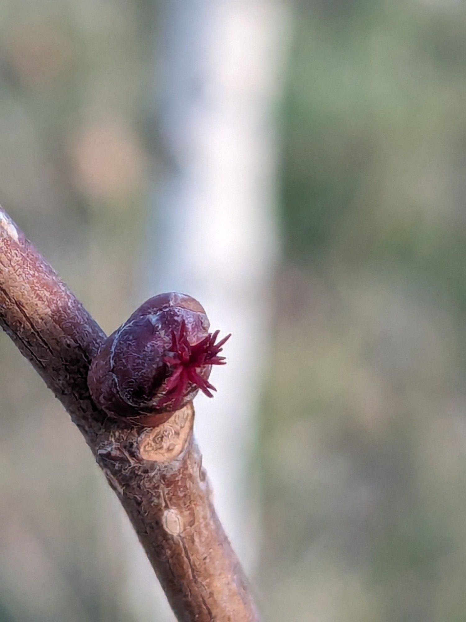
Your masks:
[{"label": "entire blurred green-brown backdrop on both sides of the white trunk", "polygon": [[[157,6],[3,0],[1,203],[107,331],[134,307]],[[293,6],[257,470],[264,619],[466,620],[466,6]],[[124,517],[0,339],[0,622],[138,621]]]}]

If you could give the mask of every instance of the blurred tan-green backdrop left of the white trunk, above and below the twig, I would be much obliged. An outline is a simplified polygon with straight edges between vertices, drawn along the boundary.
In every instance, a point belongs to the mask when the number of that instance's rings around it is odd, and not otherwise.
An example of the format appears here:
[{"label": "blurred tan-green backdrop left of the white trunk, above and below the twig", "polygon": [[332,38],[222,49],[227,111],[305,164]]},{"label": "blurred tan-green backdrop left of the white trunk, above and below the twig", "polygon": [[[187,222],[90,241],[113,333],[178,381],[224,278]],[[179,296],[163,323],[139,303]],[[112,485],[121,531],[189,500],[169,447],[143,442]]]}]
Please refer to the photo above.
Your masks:
[{"label": "blurred tan-green backdrop left of the white trunk, above and below the twig", "polygon": [[[145,4],[5,0],[0,17],[1,203],[106,330],[135,307]],[[126,518],[6,337],[0,395],[0,621],[139,622]]]}]

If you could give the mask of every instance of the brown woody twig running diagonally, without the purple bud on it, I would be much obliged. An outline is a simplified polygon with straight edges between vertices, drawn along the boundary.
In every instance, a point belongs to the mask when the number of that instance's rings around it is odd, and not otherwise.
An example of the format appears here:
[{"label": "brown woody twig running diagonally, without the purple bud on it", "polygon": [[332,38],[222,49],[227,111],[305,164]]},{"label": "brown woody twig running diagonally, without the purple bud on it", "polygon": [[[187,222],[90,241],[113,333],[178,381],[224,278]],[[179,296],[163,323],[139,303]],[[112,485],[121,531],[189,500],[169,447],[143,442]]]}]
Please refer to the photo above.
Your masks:
[{"label": "brown woody twig running diagonally, without the purple bud on it", "polygon": [[105,335],[1,208],[0,325],[81,430],[178,620],[258,620],[211,503],[192,404],[153,429],[99,411],[87,376]]}]

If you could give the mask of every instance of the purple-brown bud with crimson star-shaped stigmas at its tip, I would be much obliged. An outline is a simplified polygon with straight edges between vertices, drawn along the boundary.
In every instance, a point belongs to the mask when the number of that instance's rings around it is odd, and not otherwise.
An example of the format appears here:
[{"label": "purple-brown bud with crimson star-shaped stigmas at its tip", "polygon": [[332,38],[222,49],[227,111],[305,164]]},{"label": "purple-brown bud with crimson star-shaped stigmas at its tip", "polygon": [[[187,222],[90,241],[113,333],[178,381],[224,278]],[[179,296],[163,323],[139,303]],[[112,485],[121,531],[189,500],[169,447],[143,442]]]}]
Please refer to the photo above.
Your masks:
[{"label": "purple-brown bud with crimson star-shaped stigmas at its tip", "polygon": [[89,369],[94,402],[107,414],[156,424],[190,402],[201,389],[212,397],[212,365],[230,337],[215,343],[209,320],[186,294],[160,294],[147,300],[104,341]]}]

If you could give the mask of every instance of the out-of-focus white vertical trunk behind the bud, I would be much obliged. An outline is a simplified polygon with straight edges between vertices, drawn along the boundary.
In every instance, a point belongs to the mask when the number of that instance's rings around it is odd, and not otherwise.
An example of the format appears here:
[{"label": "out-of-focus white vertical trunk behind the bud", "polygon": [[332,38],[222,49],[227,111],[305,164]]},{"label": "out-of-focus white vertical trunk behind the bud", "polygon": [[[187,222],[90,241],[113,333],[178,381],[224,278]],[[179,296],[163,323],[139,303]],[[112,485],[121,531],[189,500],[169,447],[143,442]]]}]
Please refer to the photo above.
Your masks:
[{"label": "out-of-focus white vertical trunk behind the bud", "polygon": [[[260,545],[253,450],[277,255],[276,104],[288,40],[275,0],[170,0],[159,24],[162,162],[147,225],[144,294],[178,290],[232,333],[196,437],[214,503],[246,569]],[[160,164],[162,166],[160,167]]]}]

